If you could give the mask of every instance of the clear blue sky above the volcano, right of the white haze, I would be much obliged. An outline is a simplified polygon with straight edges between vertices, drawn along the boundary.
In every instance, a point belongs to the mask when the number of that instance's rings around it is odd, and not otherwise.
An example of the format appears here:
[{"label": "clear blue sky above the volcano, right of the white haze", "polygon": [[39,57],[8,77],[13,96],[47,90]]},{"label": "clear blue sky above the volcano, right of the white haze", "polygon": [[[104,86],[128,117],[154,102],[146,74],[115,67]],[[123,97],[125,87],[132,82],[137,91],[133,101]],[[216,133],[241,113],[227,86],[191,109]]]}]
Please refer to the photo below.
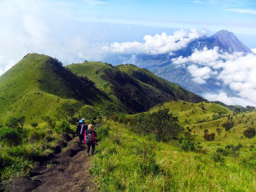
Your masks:
[{"label": "clear blue sky above the volcano, right of the white haze", "polygon": [[[106,26],[116,24],[110,26],[119,32],[123,25],[128,25],[137,31],[137,35],[123,35],[124,41],[126,37],[137,40],[145,34],[171,33],[179,28],[207,28],[209,34],[227,29],[249,48],[256,47],[256,1],[80,0],[56,5],[70,11],[74,20],[101,22]],[[112,38],[111,34],[117,38],[120,35],[112,31],[106,41]]]}]

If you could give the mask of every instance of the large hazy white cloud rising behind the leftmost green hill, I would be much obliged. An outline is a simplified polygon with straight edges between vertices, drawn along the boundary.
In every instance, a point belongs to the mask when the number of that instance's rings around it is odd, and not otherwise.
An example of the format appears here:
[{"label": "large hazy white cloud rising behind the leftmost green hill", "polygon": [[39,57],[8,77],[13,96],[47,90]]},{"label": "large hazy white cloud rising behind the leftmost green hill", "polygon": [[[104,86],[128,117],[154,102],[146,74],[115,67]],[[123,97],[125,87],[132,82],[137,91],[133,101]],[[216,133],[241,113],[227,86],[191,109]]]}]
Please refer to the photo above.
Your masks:
[{"label": "large hazy white cloud rising behind the leftmost green hill", "polygon": [[0,75],[28,53],[46,54],[65,64],[101,60],[105,44],[90,43],[89,30],[72,30],[72,12],[60,12],[59,6],[41,0],[1,1]]}]

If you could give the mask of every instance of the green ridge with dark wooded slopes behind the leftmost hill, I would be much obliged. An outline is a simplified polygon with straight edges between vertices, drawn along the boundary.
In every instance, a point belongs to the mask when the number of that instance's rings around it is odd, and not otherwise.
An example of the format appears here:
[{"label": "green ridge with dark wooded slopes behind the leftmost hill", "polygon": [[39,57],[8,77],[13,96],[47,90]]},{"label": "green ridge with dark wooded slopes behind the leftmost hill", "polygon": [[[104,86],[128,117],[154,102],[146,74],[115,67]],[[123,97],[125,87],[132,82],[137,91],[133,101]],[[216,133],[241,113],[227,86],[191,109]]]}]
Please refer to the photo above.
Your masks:
[{"label": "green ridge with dark wooded slopes behind the leftmost hill", "polygon": [[[87,76],[93,80],[98,88],[122,102],[129,113],[146,111],[170,99],[183,99],[191,102],[204,100],[198,95],[133,65],[113,67],[101,62],[84,62],[67,65],[66,68],[79,76]],[[129,68],[129,71],[125,68]],[[132,75],[131,71],[137,74]]]}]

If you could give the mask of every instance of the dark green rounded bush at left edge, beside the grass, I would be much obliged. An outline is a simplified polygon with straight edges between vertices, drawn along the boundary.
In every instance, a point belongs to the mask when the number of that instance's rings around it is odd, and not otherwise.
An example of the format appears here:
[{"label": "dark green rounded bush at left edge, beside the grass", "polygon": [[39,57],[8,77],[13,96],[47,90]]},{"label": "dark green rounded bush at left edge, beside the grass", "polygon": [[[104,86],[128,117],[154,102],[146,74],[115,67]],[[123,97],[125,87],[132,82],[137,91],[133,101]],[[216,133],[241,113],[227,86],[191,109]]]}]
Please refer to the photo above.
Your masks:
[{"label": "dark green rounded bush at left edge, beside the grass", "polygon": [[0,130],[0,139],[8,145],[18,145],[22,138],[16,129],[2,128]]}]

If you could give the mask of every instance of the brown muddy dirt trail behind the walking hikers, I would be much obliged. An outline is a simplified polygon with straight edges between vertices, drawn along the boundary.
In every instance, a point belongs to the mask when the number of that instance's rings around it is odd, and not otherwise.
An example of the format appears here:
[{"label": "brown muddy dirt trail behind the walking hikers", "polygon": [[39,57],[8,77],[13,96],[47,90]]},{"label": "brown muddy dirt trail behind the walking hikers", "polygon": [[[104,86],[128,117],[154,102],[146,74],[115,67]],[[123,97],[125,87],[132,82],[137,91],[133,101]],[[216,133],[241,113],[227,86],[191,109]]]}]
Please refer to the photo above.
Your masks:
[{"label": "brown muddy dirt trail behind the walking hikers", "polygon": [[[6,184],[7,191],[13,192],[56,192],[56,191],[97,191],[96,184],[88,173],[90,158],[86,156],[86,145],[80,144],[78,138],[69,135],[58,141],[55,154],[48,154],[46,160],[40,162],[31,171],[30,178],[18,177]],[[72,139],[72,140],[71,140]],[[61,148],[68,145],[63,152]]]}]

